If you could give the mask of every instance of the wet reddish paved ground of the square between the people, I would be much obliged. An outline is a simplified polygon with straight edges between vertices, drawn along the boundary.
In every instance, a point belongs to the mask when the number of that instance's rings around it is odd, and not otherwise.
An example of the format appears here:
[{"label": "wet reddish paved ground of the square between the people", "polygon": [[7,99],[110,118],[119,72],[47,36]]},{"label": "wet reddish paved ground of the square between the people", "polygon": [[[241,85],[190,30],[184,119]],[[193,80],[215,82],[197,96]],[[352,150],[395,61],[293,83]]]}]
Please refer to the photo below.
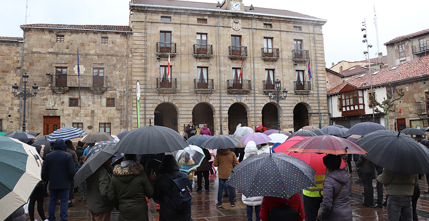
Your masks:
[{"label": "wet reddish paved ground of the square between the people", "polygon": [[[352,163],[353,164],[353,163]],[[355,168],[355,167],[353,167]],[[352,210],[354,221],[387,221],[386,207],[383,209],[373,209],[362,205],[363,203],[363,186],[361,183],[357,183],[356,171],[352,174]],[[194,185],[196,180],[194,182]],[[204,185],[204,183],[203,183]],[[374,200],[377,198],[377,191],[374,186]],[[419,215],[419,221],[429,221],[429,194],[424,193],[424,190],[428,190],[428,184],[426,183],[425,176],[419,181],[420,185],[420,198],[417,203],[417,214]],[[217,202],[217,177],[210,178],[210,192],[196,192],[196,188],[192,192],[193,204],[192,204],[192,218],[194,221],[247,221],[246,205],[241,201],[241,193],[235,191],[235,207],[231,207],[227,197],[223,197],[223,207],[216,208]],[[86,201],[79,202],[80,195],[75,194],[76,201],[75,207],[69,208],[69,221],[90,221],[89,212],[86,207]],[[44,207],[45,214],[47,216],[49,198],[45,198]],[[375,201],[374,201],[375,202]],[[56,216],[59,218],[59,205],[57,205]],[[111,221],[117,221],[119,212],[113,211]],[[37,212],[35,214],[36,220],[40,221],[40,217]],[[30,220],[30,219],[29,219]],[[153,200],[149,202],[149,220],[158,221],[159,215],[156,212],[156,204]],[[253,220],[255,220],[253,214]]]}]

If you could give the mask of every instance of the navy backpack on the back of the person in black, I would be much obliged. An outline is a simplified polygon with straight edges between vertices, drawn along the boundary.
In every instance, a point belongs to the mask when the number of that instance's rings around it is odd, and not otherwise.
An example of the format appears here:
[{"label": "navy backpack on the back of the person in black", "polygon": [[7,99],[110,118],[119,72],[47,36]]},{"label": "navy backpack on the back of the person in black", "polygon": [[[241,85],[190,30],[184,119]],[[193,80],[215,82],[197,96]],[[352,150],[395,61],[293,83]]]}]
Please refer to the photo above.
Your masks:
[{"label": "navy backpack on the back of the person in black", "polygon": [[180,176],[173,179],[170,174],[165,174],[172,181],[173,192],[170,204],[175,210],[188,209],[192,205],[191,189],[192,185],[188,176],[180,172]]}]

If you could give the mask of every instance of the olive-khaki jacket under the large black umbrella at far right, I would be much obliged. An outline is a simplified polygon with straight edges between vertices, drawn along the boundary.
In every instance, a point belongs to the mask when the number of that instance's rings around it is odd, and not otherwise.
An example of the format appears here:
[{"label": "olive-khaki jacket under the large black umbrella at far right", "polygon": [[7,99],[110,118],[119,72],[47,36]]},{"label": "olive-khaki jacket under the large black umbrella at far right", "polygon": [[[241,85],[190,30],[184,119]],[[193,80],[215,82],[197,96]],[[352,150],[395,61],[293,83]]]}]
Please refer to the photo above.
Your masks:
[{"label": "olive-khaki jacket under the large black umbrella at far right", "polygon": [[419,176],[396,173],[384,168],[383,173],[377,177],[377,181],[386,184],[386,195],[389,197],[412,196],[414,186],[419,184]]}]

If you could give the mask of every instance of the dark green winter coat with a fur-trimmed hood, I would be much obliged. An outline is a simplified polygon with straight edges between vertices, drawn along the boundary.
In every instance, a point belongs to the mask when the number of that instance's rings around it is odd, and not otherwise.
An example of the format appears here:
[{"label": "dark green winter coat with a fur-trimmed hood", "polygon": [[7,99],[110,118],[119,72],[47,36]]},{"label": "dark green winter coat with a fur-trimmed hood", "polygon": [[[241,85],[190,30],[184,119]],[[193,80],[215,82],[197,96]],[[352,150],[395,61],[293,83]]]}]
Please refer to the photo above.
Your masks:
[{"label": "dark green winter coat with a fur-trimmed hood", "polygon": [[116,165],[108,186],[107,198],[119,210],[118,221],[148,221],[144,196],[153,196],[154,185],[155,181],[149,181],[142,165],[131,160]]}]

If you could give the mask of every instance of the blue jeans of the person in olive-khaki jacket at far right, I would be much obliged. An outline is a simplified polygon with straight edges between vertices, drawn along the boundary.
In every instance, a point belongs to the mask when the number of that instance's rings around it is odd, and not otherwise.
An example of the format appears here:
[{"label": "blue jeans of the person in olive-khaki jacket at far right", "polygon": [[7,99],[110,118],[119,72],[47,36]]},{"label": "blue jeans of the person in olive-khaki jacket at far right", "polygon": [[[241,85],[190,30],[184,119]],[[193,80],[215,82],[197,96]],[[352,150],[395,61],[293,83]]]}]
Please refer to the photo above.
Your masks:
[{"label": "blue jeans of the person in olive-khaki jacket at far right", "polygon": [[404,221],[413,221],[411,196],[387,198],[387,220],[397,221],[402,216]]}]

